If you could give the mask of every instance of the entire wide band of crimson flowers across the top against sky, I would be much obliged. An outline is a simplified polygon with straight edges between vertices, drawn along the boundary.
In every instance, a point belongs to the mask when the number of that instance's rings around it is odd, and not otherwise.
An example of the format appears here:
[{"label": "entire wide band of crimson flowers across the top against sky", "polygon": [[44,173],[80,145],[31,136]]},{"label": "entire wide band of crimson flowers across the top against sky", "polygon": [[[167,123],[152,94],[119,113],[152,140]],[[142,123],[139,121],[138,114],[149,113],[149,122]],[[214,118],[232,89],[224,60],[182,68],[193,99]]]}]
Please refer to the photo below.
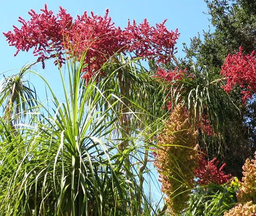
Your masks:
[{"label": "entire wide band of crimson flowers across the top against sky", "polygon": [[13,32],[4,33],[10,46],[16,47],[15,55],[34,48],[33,54],[39,56],[37,60],[43,62],[44,67],[44,60],[55,57],[54,52],[61,65],[65,62],[64,51],[70,55],[72,51],[79,60],[87,50],[84,60],[87,79],[115,53],[135,52],[137,57],[156,58],[157,62],[166,63],[173,55],[179,36],[178,29],[167,30],[166,20],[156,27],[150,26],[146,19],[139,25],[128,21],[128,26],[122,30],[111,22],[108,9],[103,17],[92,12],[89,16],[85,11],[75,20],[61,7],[56,16],[48,11],[46,4],[41,12],[30,10],[29,21],[19,17],[20,29],[13,26]]}]

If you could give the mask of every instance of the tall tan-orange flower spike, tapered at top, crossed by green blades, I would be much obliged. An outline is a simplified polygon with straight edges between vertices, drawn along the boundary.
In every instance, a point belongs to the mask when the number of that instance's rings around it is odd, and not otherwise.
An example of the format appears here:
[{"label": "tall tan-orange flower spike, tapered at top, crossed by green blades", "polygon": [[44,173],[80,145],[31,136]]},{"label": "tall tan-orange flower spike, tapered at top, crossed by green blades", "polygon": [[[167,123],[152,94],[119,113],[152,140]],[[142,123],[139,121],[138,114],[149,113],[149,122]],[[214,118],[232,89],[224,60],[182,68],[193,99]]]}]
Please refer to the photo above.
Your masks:
[{"label": "tall tan-orange flower spike, tapered at top, crossed by green blades", "polygon": [[165,122],[154,154],[154,166],[171,215],[179,215],[187,207],[189,188],[192,189],[194,183],[191,170],[197,167],[199,159],[196,136],[188,121],[187,110],[178,104]]}]

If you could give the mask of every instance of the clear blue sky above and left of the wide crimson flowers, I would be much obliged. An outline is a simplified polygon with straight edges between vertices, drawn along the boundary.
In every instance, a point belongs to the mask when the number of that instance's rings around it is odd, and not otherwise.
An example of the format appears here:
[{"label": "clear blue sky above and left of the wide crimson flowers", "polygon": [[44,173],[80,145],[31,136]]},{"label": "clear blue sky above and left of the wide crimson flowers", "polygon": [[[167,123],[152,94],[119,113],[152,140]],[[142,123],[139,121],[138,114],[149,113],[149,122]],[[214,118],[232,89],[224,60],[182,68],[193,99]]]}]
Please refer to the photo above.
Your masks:
[{"label": "clear blue sky above and left of the wide crimson flowers", "polygon": [[[137,23],[147,18],[151,25],[163,22],[167,18],[168,20],[165,23],[167,28],[169,30],[178,28],[180,32],[180,38],[177,41],[176,47],[178,48],[177,55],[181,57],[184,56],[182,43],[186,42],[189,44],[189,38],[196,36],[197,32],[202,35],[202,30],[207,31],[210,24],[208,16],[203,14],[203,11],[207,12],[204,0],[2,0],[0,7],[1,74],[7,70],[21,68],[24,64],[36,60],[32,52],[20,52],[16,57],[13,57],[16,50],[14,47],[8,46],[2,32],[12,30],[12,25],[20,27],[20,23],[17,22],[19,16],[28,20],[30,19],[28,11],[34,9],[36,12],[39,12],[39,9],[43,8],[45,3],[48,5],[48,9],[54,11],[55,14],[58,12],[59,6],[62,6],[73,17],[82,15],[84,11],[93,11],[95,14],[104,15],[106,8],[108,8],[112,21],[121,28],[126,26],[128,18],[130,20],[135,19]],[[18,72],[18,70],[6,72],[5,75]],[[45,70],[39,64],[37,72],[45,76],[53,90],[58,92],[57,97],[61,99],[59,73],[56,66],[52,64],[52,61],[46,62]],[[0,80],[2,78],[3,76],[0,75]],[[42,82],[39,81],[39,77],[32,76],[29,78],[35,85],[39,97],[43,99],[45,97],[45,88],[42,86]]]}]

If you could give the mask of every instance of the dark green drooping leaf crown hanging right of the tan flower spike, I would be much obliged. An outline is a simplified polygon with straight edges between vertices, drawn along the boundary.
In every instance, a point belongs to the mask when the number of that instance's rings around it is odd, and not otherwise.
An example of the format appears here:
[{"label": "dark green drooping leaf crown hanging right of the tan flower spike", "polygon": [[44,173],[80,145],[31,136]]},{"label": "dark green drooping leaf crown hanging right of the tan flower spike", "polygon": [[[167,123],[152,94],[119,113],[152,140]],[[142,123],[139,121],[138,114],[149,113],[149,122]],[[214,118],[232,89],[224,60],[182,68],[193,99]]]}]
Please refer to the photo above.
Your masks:
[{"label": "dark green drooping leaf crown hanging right of the tan flower spike", "polygon": [[[166,94],[169,101],[175,107],[182,103],[189,113],[189,121],[194,129],[198,130],[202,147],[209,149],[211,154],[223,154],[226,148],[225,127],[227,119],[234,119],[239,113],[239,108],[233,103],[232,97],[224,92],[222,85],[224,80],[211,80],[200,71],[194,71],[195,77],[184,74],[179,80],[167,83]],[[203,124],[211,128],[211,134],[204,134]]]}]

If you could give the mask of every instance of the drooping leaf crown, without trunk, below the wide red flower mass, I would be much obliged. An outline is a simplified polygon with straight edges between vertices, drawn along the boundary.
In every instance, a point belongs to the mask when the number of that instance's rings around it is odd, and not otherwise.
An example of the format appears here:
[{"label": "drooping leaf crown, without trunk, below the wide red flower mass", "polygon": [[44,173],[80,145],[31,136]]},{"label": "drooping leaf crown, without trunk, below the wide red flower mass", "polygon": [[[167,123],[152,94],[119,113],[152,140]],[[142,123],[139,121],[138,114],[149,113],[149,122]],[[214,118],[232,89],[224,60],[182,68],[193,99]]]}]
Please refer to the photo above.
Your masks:
[{"label": "drooping leaf crown, without trunk, below the wide red flower mass", "polygon": [[[142,66],[140,59],[117,54],[102,66],[105,76],[97,77],[97,87],[104,94],[113,94],[108,98],[110,103],[117,101],[116,96],[121,98],[113,110],[123,113],[120,122],[126,126],[126,133],[143,130],[145,125],[156,123],[166,114],[163,86],[152,71]],[[105,103],[105,107],[109,108],[109,103]],[[161,123],[152,124],[155,128],[151,130],[157,130]]]}]

